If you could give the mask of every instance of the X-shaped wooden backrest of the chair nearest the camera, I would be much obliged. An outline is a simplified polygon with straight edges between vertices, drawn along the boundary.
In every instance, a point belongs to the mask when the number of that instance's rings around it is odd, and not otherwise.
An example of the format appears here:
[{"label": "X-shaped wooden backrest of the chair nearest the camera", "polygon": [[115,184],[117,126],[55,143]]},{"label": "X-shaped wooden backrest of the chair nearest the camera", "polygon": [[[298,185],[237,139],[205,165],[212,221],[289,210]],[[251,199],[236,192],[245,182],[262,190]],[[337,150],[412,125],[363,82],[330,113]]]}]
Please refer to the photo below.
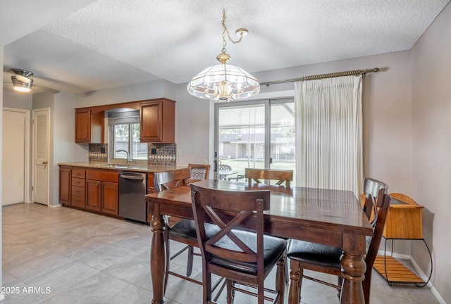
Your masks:
[{"label": "X-shaped wooden backrest of the chair nearest the camera", "polygon": [[[225,260],[257,262],[257,272],[263,275],[263,212],[269,210],[269,190],[223,191],[191,184],[191,199],[203,262],[209,265],[212,255]],[[257,236],[257,248],[249,248],[236,235],[237,232],[233,232],[233,229],[237,229],[248,217],[255,217],[255,220],[252,220],[254,227],[247,228],[257,232],[254,234]],[[214,222],[219,227],[218,232],[209,235],[208,239],[204,222]],[[221,247],[221,243],[230,244],[230,241],[233,242],[235,250]]]}]

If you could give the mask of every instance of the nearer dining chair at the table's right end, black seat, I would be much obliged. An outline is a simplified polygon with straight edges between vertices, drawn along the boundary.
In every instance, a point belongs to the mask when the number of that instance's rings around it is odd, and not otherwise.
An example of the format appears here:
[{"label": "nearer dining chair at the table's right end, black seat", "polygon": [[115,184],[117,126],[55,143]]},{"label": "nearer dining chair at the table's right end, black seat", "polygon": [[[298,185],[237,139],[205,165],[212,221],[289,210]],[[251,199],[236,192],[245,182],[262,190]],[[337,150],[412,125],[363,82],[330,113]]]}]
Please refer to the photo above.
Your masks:
[{"label": "nearer dining chair at the table's right end, black seat", "polygon": [[[378,198],[376,201],[377,217],[373,227],[373,236],[369,244],[369,249],[366,251],[365,263],[365,279],[362,281],[364,290],[365,303],[369,304],[369,293],[371,288],[371,273],[374,260],[378,253],[379,245],[385,227],[385,220],[387,218],[388,208],[390,206],[390,196],[385,194],[385,188],[378,191]],[[340,291],[342,287],[342,273],[340,258],[342,255],[342,248],[327,246],[319,243],[311,243],[308,241],[290,240],[288,245],[288,258],[290,259],[290,294],[294,296],[295,303],[300,303],[302,278],[310,279],[327,286],[335,287]],[[321,281],[314,277],[304,275],[304,270],[313,270],[315,272],[323,272],[326,274],[333,274],[338,277],[338,284],[331,284],[326,281]],[[297,285],[298,293],[295,294]]]}]

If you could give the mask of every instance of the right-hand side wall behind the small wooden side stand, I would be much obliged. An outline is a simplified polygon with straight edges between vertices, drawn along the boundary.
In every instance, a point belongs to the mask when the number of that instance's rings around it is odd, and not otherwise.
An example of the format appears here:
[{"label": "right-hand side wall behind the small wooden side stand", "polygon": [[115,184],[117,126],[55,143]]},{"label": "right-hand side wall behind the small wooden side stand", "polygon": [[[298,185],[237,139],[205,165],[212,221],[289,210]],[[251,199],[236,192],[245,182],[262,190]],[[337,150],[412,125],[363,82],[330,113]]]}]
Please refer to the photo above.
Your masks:
[{"label": "right-hand side wall behind the small wooden side stand", "polygon": [[[434,258],[433,286],[451,303],[451,4],[412,48],[412,197],[423,211],[424,237]],[[412,243],[412,256],[428,270],[428,253]]]}]

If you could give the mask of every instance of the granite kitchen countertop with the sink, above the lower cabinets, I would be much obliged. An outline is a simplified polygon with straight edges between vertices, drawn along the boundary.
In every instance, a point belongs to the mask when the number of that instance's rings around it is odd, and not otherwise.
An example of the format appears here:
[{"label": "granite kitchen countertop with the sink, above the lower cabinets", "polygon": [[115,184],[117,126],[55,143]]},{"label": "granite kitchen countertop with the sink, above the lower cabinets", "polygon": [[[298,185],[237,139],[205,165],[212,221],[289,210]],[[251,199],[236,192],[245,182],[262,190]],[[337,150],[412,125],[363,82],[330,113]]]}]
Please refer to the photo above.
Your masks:
[{"label": "granite kitchen countertop with the sink, above the lower cabinets", "polygon": [[180,166],[161,166],[161,165],[149,165],[147,163],[135,163],[127,165],[125,163],[99,163],[99,162],[72,162],[72,163],[58,163],[62,166],[70,167],[89,167],[93,169],[110,169],[110,170],[124,170],[135,172],[167,172],[179,169],[185,169],[186,167]]}]

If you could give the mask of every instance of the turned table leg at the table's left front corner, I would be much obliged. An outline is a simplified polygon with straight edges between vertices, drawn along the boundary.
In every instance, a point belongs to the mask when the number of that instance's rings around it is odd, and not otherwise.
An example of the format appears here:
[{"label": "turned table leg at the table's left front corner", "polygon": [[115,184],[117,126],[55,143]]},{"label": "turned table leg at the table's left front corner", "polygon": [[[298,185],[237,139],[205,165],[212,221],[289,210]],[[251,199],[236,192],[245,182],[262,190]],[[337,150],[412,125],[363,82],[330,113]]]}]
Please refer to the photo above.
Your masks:
[{"label": "turned table leg at the table's left front corner", "polygon": [[166,270],[166,246],[164,245],[164,230],[166,224],[163,215],[152,215],[152,245],[150,248],[150,274],[154,298],[152,304],[164,303],[164,272]]}]

